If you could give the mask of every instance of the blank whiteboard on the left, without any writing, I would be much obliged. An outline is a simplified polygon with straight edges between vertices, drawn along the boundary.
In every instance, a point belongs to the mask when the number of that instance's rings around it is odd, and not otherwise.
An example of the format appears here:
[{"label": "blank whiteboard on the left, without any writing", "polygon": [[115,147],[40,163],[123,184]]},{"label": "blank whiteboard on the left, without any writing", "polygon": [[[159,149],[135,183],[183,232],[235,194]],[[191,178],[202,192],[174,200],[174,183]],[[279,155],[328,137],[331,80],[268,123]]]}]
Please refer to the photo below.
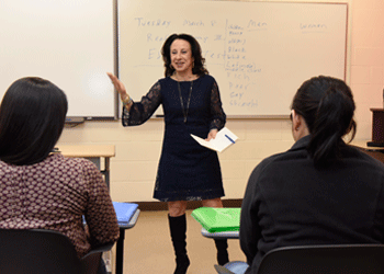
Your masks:
[{"label": "blank whiteboard on the left, without any writing", "polygon": [[50,80],[68,98],[68,115],[116,116],[106,71],[116,67],[113,0],[1,0],[0,96],[22,77]]}]

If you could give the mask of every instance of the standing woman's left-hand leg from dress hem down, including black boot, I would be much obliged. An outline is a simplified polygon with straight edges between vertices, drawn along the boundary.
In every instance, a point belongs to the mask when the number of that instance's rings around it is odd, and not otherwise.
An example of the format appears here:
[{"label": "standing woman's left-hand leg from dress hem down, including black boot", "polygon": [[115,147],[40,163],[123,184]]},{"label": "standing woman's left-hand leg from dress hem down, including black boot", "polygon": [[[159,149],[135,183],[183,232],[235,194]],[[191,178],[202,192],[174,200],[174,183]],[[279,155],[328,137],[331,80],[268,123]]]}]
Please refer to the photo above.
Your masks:
[{"label": "standing woman's left-hand leg from dress hem down, including black boot", "polygon": [[168,202],[169,230],[176,254],[176,270],[173,274],[185,274],[190,265],[187,255],[187,201]]}]

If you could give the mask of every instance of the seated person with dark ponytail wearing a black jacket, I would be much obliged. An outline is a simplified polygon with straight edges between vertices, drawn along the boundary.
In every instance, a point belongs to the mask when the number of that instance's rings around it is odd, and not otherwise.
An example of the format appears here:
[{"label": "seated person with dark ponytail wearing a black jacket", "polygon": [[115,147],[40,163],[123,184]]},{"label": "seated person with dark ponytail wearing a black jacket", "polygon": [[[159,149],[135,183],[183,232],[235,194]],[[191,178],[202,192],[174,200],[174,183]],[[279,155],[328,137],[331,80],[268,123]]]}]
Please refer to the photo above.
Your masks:
[{"label": "seated person with dark ponytail wearing a black jacket", "polygon": [[240,246],[257,273],[281,247],[384,243],[384,164],[353,139],[354,102],[341,80],[305,81],[292,102],[293,147],[251,173],[241,206]]}]

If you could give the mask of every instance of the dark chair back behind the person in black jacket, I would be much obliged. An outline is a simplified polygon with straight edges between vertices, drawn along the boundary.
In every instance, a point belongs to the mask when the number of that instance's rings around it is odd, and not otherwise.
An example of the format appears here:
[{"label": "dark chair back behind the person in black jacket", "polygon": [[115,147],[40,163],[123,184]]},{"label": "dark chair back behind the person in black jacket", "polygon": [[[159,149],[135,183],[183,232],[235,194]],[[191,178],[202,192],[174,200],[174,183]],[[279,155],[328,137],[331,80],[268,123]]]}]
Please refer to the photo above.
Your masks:
[{"label": "dark chair back behind the person in black jacket", "polygon": [[384,244],[279,248],[262,259],[257,274],[383,274]]}]

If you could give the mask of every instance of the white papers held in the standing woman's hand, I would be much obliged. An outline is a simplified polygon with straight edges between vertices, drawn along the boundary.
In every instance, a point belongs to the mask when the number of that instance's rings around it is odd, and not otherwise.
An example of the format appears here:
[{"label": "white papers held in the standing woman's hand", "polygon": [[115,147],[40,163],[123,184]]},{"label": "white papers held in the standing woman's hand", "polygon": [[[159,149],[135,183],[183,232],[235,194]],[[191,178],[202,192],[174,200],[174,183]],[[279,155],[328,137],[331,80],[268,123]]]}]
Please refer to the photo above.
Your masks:
[{"label": "white papers held in the standing woman's hand", "polygon": [[203,147],[207,147],[212,150],[216,150],[218,152],[222,152],[227,147],[234,145],[238,137],[230,132],[228,128],[224,127],[222,130],[219,130],[216,134],[216,138],[211,139],[210,141],[206,141],[205,139],[202,139],[193,134],[191,134],[192,138],[195,139],[200,145]]}]

